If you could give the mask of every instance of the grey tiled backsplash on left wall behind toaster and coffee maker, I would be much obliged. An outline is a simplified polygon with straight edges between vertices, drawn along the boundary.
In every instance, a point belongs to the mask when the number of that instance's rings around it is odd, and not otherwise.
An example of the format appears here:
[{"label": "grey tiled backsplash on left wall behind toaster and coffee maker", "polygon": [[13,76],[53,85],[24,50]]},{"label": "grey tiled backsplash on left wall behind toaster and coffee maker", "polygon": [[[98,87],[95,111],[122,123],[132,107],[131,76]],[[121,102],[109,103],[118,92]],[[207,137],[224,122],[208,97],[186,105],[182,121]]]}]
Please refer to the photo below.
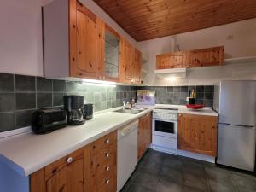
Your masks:
[{"label": "grey tiled backsplash on left wall behind toaster and coffee maker", "polygon": [[114,108],[136,97],[136,87],[92,86],[64,80],[0,73],[0,132],[31,125],[37,108],[63,106],[64,95],[82,95],[95,111]]}]

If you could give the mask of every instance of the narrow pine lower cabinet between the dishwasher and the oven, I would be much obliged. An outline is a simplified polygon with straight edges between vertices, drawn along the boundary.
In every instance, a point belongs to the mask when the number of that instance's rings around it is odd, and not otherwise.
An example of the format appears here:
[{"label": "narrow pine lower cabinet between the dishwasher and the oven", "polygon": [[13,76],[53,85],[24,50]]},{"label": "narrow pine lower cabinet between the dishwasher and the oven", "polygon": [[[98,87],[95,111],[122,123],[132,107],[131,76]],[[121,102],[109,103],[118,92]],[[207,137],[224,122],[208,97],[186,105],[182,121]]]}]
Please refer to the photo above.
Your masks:
[{"label": "narrow pine lower cabinet between the dishwasher and the oven", "polygon": [[152,143],[152,114],[148,113],[139,119],[137,133],[137,160],[140,160]]}]

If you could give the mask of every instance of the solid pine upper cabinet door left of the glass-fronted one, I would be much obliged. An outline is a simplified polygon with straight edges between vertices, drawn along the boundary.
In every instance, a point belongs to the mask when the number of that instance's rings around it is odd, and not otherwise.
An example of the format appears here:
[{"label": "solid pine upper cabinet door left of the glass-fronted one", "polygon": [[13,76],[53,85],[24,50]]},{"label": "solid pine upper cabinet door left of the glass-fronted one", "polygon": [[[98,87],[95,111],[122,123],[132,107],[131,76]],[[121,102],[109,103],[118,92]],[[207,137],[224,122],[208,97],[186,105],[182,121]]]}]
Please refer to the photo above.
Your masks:
[{"label": "solid pine upper cabinet door left of the glass-fronted one", "polygon": [[[72,4],[73,0],[70,0],[70,3]],[[70,20],[70,25],[76,27],[70,32],[70,58],[73,60],[70,65],[70,76],[96,79],[96,15],[79,1],[76,1],[76,9],[70,7],[70,14],[72,13],[76,15],[76,20]]]}]

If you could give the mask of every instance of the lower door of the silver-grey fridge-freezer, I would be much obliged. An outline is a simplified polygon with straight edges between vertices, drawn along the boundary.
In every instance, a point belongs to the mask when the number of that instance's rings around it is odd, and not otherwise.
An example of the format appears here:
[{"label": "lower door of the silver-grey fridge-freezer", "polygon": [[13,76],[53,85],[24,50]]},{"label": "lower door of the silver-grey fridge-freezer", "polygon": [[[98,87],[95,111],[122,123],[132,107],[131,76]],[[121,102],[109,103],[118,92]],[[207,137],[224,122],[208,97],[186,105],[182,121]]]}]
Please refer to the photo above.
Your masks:
[{"label": "lower door of the silver-grey fridge-freezer", "polygon": [[218,164],[254,171],[255,128],[218,125]]}]

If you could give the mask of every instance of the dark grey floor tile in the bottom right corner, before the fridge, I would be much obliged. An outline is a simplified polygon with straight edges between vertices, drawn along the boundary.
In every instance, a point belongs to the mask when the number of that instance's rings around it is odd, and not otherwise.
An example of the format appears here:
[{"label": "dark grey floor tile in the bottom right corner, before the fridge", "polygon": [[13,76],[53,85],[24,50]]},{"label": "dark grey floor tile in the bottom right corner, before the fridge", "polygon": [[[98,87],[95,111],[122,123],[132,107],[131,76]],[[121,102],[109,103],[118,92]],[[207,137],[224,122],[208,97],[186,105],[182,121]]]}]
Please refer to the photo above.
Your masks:
[{"label": "dark grey floor tile in the bottom right corner, before the fridge", "polygon": [[256,177],[235,172],[231,172],[231,177],[237,187],[256,190]]}]

